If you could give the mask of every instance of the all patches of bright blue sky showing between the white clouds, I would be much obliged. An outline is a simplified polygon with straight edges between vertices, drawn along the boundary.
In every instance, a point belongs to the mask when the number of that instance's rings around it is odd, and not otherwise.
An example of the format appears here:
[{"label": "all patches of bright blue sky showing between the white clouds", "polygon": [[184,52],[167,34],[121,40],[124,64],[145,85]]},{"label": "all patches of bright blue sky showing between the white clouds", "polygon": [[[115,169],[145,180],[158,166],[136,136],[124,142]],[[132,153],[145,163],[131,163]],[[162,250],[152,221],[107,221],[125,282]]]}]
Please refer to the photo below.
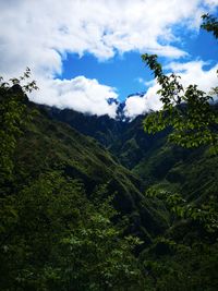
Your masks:
[{"label": "all patches of bright blue sky showing between the white clouds", "polygon": [[[218,45],[214,36],[203,29],[199,33],[180,33],[182,45],[179,45],[190,56],[182,58],[182,62],[190,60],[203,60],[209,62],[205,70],[209,70],[218,62]],[[116,87],[119,99],[124,100],[130,94],[145,92],[142,81],[153,80],[149,70],[142,62],[140,52],[126,52],[123,56],[116,54],[112,59],[99,61],[95,56],[86,53],[80,57],[77,53],[68,53],[63,60],[63,71],[57,74],[58,78],[72,78],[84,75],[87,78],[97,78],[99,83]],[[162,64],[169,62],[167,58],[159,58]]]}]

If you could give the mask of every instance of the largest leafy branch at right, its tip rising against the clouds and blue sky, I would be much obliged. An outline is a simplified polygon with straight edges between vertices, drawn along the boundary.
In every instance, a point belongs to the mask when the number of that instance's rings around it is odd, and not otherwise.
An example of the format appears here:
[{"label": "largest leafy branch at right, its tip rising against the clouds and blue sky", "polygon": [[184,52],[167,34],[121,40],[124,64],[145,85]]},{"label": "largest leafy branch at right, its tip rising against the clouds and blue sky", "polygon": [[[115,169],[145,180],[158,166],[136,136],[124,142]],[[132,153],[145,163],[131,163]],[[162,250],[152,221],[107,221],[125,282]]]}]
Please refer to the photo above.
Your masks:
[{"label": "largest leafy branch at right, its tip rising against the clouds and blue sky", "polygon": [[146,117],[145,131],[156,133],[171,126],[171,142],[187,148],[211,145],[217,151],[218,134],[215,126],[218,124],[218,114],[209,104],[211,97],[196,85],[189,85],[184,89],[179,82],[180,76],[173,73],[165,75],[156,54],[145,53],[142,59],[153,70],[160,85],[158,94],[162,101],[161,110]]}]

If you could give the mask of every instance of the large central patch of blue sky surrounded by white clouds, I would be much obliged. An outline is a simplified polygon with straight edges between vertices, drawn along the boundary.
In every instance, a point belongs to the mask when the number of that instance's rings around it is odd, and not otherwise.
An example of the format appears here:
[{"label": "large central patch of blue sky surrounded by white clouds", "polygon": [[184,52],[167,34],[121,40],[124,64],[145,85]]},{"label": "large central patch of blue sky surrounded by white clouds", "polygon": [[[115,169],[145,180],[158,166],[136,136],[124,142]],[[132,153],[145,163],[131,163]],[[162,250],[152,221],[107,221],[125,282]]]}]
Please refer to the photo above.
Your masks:
[{"label": "large central patch of blue sky surrounded by white clouds", "polygon": [[78,54],[68,54],[63,61],[63,73],[60,78],[72,78],[84,75],[87,78],[97,78],[99,83],[116,87],[121,100],[137,90],[145,90],[138,77],[144,77],[145,65],[138,52],[126,52],[124,56],[114,56],[108,61],[98,61],[92,54],[80,58]]}]

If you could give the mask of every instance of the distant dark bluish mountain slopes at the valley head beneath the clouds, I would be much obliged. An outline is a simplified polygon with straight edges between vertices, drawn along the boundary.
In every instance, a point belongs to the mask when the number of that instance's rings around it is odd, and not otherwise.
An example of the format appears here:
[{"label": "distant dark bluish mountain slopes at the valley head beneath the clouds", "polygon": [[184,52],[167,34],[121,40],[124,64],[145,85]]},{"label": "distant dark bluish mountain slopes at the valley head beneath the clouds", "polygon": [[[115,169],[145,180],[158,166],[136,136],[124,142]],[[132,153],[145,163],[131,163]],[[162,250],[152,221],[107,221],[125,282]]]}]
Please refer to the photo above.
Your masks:
[{"label": "distant dark bluish mountain slopes at the valley head beneath the clouds", "polygon": [[129,169],[136,166],[150,148],[165,143],[166,133],[153,136],[144,132],[143,116],[128,122],[108,116],[87,116],[71,109],[40,107],[52,119],[70,124],[78,132],[96,138]]}]

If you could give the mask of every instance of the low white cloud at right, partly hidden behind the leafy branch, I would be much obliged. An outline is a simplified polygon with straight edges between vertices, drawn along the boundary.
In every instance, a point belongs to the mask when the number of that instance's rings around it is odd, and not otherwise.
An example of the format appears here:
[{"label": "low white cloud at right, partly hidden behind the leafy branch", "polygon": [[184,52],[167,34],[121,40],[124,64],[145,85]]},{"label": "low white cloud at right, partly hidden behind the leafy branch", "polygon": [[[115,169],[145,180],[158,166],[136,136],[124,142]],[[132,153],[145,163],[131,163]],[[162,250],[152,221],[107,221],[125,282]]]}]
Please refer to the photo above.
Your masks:
[{"label": "low white cloud at right, partly hidden behind the leafy branch", "polygon": [[[208,93],[211,87],[217,86],[216,72],[218,70],[218,64],[209,70],[204,70],[205,65],[207,65],[207,63],[201,60],[186,63],[171,62],[166,69],[181,76],[181,83],[184,88],[190,84],[196,84],[199,89]],[[143,80],[140,80],[140,82],[143,82]],[[150,85],[150,87],[143,97],[131,96],[128,98],[124,108],[126,117],[133,119],[138,114],[150,110],[156,111],[161,108],[162,104],[159,100],[159,95],[157,95],[157,90],[160,88],[159,85],[155,81],[150,81],[147,84]]]}]

